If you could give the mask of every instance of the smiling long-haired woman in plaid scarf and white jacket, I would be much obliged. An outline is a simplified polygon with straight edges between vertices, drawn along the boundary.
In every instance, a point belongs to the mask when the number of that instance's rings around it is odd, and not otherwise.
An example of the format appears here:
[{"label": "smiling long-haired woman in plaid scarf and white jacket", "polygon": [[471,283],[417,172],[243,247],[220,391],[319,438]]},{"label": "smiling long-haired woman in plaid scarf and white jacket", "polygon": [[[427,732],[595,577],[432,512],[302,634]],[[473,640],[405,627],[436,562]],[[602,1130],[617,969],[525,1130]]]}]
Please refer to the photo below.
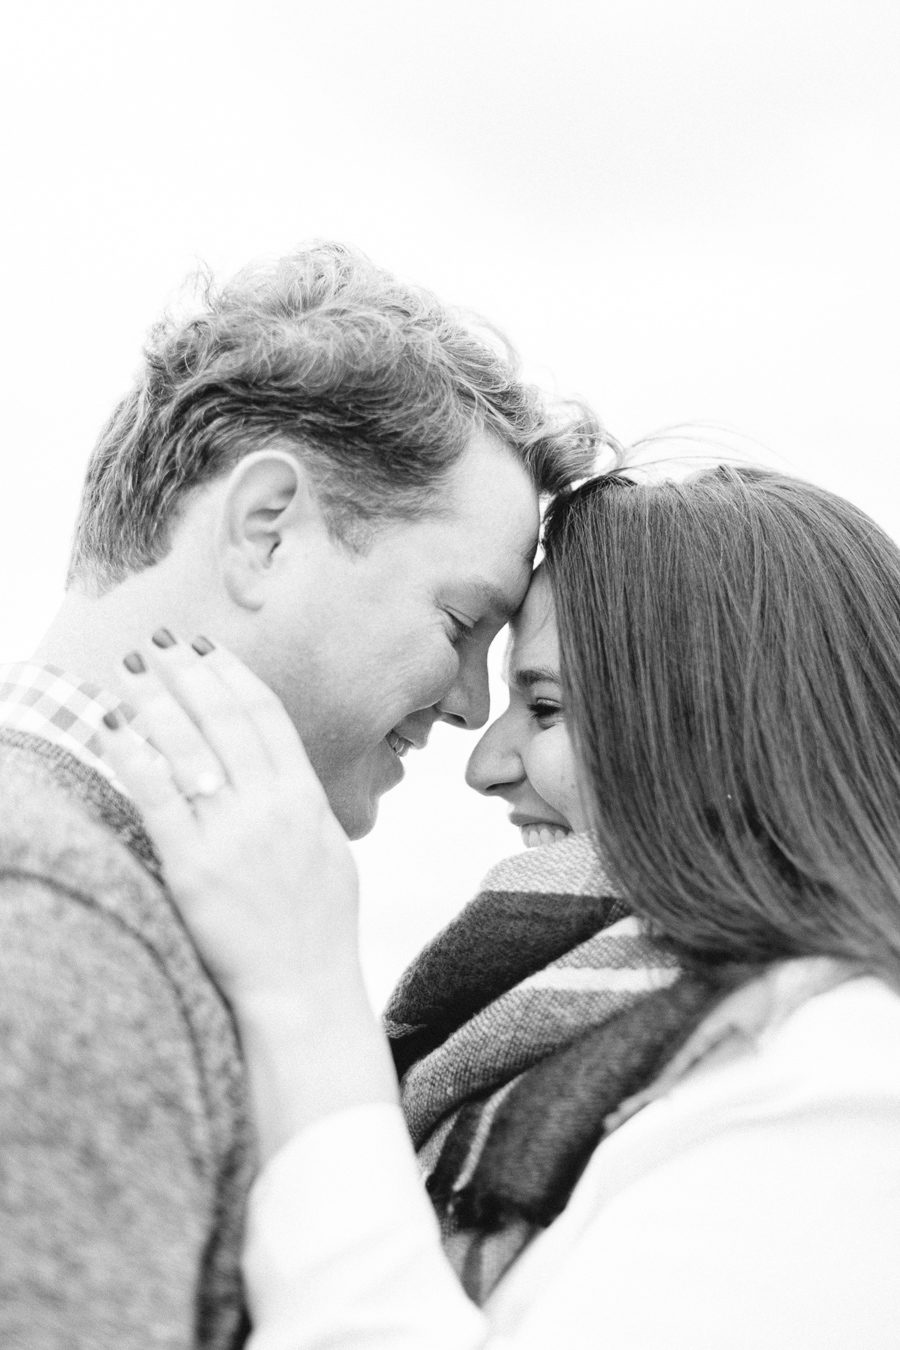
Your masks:
[{"label": "smiling long-haired woman in plaid scarf and white jacket", "polygon": [[131,682],[171,776],[108,736],[247,1050],[256,1343],[895,1346],[900,555],[753,470],[592,481],[545,552],[470,765],[542,846],[389,1010],[471,1297],[285,714],[178,644]]}]

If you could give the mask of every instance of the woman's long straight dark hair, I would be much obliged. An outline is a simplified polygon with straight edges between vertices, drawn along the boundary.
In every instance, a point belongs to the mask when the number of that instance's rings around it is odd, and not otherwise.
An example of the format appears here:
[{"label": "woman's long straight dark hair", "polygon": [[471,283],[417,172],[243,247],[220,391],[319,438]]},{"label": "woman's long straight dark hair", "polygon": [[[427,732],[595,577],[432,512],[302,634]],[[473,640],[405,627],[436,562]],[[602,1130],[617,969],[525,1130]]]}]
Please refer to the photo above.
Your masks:
[{"label": "woman's long straight dark hair", "polygon": [[900,549],[766,470],[611,474],[545,525],[563,679],[613,873],[707,971],[900,972]]}]

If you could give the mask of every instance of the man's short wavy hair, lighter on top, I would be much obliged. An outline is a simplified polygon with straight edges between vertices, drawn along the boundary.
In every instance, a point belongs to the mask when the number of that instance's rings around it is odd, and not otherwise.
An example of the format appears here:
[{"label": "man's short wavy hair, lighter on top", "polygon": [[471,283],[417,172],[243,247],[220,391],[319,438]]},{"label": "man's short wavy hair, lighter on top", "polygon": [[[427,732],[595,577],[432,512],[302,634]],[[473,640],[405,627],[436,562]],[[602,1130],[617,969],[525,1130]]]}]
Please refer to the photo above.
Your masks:
[{"label": "man's short wavy hair, lighter on top", "polygon": [[100,435],[69,582],[97,591],[159,562],[189,495],[254,450],[294,450],[335,537],[440,512],[475,431],[541,493],[591,470],[604,440],[579,404],[545,405],[503,339],[360,252],[320,243],[250,267],[151,332]]}]

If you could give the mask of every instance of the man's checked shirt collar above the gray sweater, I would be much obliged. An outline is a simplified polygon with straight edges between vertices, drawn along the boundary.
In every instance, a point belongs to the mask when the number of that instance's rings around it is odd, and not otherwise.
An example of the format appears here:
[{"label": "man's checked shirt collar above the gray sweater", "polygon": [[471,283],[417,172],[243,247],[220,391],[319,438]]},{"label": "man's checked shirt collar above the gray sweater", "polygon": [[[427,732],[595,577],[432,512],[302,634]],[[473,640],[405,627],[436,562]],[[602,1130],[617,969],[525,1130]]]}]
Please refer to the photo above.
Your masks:
[{"label": "man's checked shirt collar above the gray sweater", "polygon": [[53,741],[128,795],[101,757],[97,738],[100,718],[113,709],[121,709],[119,698],[57,666],[0,664],[0,726]]}]

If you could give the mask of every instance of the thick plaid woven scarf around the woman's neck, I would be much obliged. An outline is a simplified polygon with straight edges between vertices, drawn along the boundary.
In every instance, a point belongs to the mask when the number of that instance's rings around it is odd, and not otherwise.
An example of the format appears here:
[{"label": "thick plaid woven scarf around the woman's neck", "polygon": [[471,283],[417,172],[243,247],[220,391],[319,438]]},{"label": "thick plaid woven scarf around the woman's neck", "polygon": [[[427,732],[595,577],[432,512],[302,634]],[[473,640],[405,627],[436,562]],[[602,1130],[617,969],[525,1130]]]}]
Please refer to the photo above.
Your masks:
[{"label": "thick plaid woven scarf around the woman's neck", "polygon": [[409,967],[386,1010],[401,1100],[476,1303],[723,992],[629,914],[587,834],[498,864]]}]

